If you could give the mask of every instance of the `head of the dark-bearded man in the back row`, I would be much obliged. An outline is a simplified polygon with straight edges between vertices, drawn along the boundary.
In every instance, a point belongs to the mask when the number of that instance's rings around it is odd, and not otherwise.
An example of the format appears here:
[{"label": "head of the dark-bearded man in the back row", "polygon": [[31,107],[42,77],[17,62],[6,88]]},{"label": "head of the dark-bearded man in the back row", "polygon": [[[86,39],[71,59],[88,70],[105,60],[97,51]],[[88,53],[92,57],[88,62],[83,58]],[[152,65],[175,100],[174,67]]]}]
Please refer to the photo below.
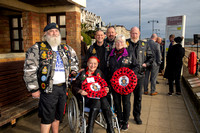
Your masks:
[{"label": "head of the dark-bearded man in the back row", "polygon": [[116,35],[117,35],[117,33],[116,33],[114,27],[110,26],[107,28],[107,31],[106,31],[107,38],[105,39],[105,41],[106,41],[107,45],[109,45],[110,50],[113,47]]}]

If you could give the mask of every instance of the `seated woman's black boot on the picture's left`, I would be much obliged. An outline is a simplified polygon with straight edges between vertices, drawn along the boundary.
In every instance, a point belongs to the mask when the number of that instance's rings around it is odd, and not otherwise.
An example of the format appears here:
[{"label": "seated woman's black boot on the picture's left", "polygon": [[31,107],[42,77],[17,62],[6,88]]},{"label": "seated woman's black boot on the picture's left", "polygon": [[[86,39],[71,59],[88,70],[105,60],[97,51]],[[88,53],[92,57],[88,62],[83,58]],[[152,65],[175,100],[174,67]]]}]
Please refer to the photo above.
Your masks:
[{"label": "seated woman's black boot on the picture's left", "polygon": [[88,127],[86,133],[93,133],[94,121],[99,113],[98,108],[91,108],[88,118]]}]

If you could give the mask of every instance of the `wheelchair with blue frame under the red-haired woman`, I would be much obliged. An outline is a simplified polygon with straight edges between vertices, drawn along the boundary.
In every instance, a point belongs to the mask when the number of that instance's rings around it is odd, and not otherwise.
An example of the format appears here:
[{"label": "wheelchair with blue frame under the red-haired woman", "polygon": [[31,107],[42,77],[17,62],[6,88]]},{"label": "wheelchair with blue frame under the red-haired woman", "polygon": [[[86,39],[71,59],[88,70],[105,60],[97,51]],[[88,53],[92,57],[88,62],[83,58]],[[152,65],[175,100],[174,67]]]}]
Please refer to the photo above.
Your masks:
[{"label": "wheelchair with blue frame under the red-haired woman", "polygon": [[[89,117],[90,108],[85,107],[85,98],[84,96],[81,96],[80,103],[77,100],[77,97],[73,95],[72,93],[72,87],[70,87],[68,91],[68,99],[67,99],[67,117],[68,117],[68,123],[71,132],[73,133],[86,133],[87,128],[87,119]],[[114,127],[114,130],[116,129],[118,133],[120,133],[120,128],[118,124],[117,116],[113,109],[113,97],[112,94],[108,94],[110,96],[110,104],[111,104],[111,112],[112,112],[112,124]],[[97,118],[95,120],[95,123],[99,126],[106,129],[106,121],[104,119],[103,113],[99,112],[97,115]]]}]

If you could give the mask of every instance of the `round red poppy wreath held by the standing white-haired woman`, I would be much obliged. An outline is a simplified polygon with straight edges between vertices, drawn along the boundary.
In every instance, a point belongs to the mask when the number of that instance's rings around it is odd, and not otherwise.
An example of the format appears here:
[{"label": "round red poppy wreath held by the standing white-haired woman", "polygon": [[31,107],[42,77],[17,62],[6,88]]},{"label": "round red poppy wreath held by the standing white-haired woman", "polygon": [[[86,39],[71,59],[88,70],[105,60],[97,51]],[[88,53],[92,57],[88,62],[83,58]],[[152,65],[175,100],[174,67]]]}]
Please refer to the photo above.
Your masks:
[{"label": "round red poppy wreath held by the standing white-haired woman", "polygon": [[[126,83],[122,83],[122,80]],[[133,70],[127,67],[121,67],[114,72],[110,81],[113,89],[117,93],[121,95],[128,95],[133,92],[137,85],[137,76]]]}]

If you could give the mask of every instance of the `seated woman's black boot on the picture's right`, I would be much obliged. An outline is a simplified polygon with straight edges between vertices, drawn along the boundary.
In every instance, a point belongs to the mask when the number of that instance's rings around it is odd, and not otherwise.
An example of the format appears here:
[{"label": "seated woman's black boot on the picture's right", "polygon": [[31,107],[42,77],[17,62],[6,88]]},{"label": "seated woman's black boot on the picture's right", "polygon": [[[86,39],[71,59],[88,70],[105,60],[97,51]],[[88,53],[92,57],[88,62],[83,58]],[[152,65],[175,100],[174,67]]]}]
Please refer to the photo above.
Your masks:
[{"label": "seated woman's black boot on the picture's right", "polygon": [[113,123],[112,123],[112,112],[111,110],[103,109],[102,110],[104,118],[106,119],[107,123],[107,133],[114,133]]}]

